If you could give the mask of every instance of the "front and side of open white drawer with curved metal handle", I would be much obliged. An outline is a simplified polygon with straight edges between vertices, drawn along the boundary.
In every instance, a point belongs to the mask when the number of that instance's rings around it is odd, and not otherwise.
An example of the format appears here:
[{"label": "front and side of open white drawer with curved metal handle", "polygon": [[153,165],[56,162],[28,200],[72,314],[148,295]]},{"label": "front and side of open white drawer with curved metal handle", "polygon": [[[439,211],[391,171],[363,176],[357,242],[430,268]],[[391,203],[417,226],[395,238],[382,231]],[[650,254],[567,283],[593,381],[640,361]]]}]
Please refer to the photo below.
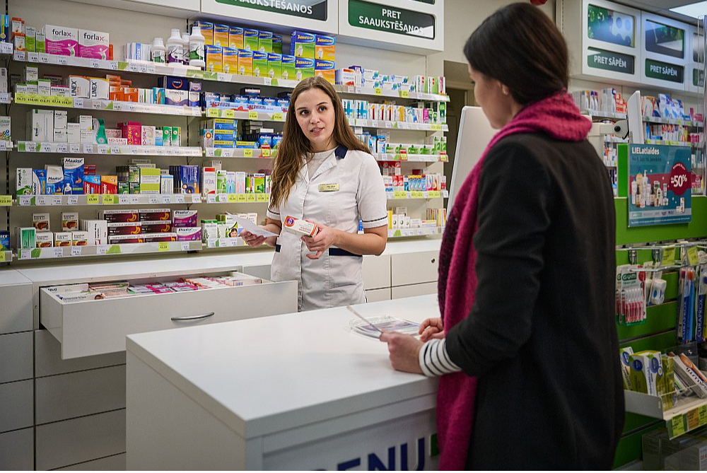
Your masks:
[{"label": "front and side of open white drawer with curved metal handle", "polygon": [[129,334],[293,312],[296,281],[79,302],[40,290],[40,322],[62,344],[64,360],[124,351]]}]

